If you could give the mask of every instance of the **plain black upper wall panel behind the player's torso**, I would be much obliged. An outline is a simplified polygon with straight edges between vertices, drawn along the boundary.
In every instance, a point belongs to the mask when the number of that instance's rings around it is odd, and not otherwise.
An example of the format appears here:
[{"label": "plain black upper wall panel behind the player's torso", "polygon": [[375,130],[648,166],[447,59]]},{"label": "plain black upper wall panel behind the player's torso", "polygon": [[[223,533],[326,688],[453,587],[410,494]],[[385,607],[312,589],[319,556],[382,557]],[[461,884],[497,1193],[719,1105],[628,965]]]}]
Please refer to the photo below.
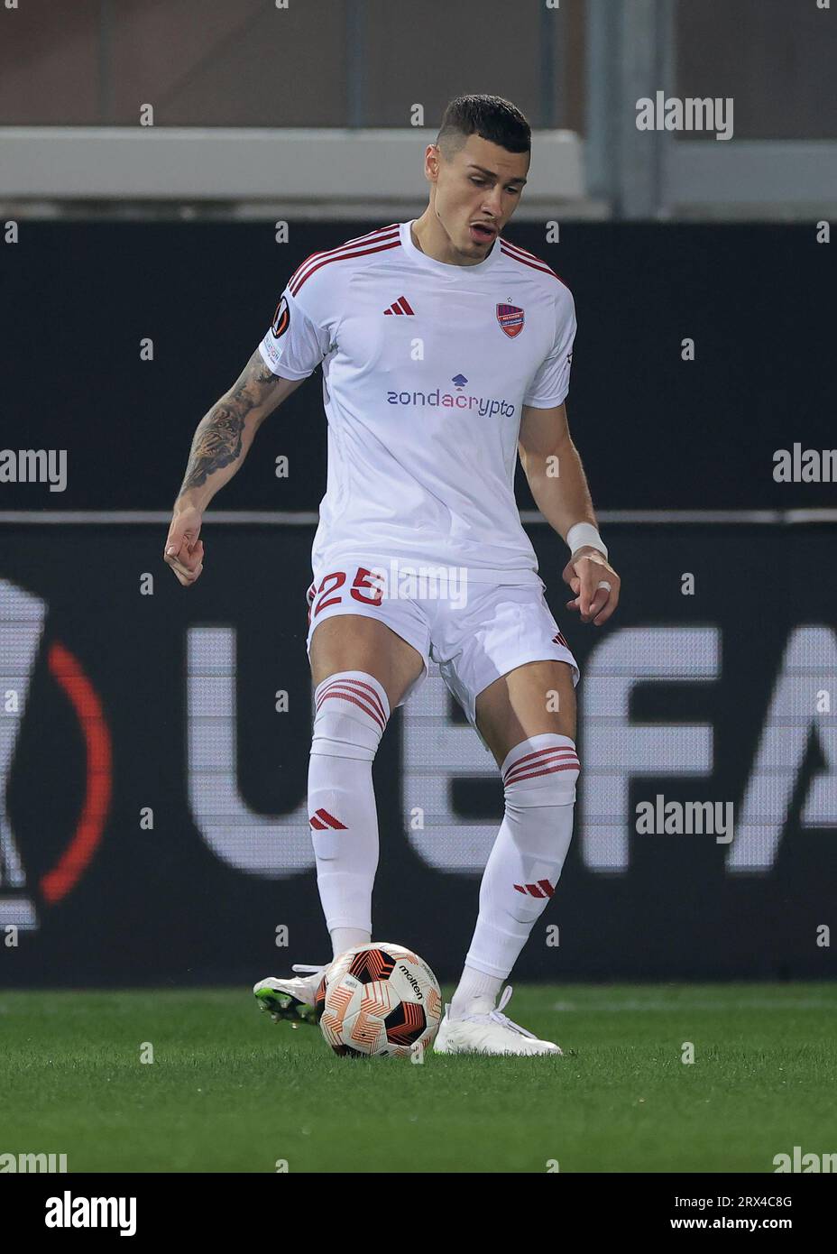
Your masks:
[{"label": "plain black upper wall panel behind the player's torso", "polygon": [[[416,213],[421,209],[416,206]],[[388,221],[388,219],[383,219]],[[1,484],[0,509],[168,508],[194,426],[236,379],[311,252],[380,222],[23,222],[1,252],[0,445],[68,450],[63,493]],[[833,245],[814,224],[568,223],[507,237],[571,287],[571,429],[600,509],[814,508],[773,453],[834,444]],[[153,341],[153,361],[140,341]],[[684,362],[680,342],[695,341]],[[262,428],[223,509],[315,509],[320,371]],[[274,458],[289,458],[277,479]],[[522,475],[519,502],[531,508]]]}]

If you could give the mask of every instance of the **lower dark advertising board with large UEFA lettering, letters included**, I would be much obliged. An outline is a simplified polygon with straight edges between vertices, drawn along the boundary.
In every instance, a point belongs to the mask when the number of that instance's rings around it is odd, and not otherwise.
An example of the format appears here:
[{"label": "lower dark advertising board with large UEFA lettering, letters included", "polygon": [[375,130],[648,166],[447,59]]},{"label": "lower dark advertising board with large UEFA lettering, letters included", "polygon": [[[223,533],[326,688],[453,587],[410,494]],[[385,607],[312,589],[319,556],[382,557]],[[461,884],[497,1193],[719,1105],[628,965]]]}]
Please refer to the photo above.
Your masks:
[{"label": "lower dark advertising board with large UEFA lettering, letters included", "polygon": [[[23,879],[10,885],[6,850],[0,924],[26,908],[38,927],[21,930],[16,948],[1,943],[0,927],[3,984],[247,986],[291,962],[327,957],[306,867],[312,529],[209,519],[205,569],[189,589],[163,567],[163,530],[5,528],[0,687],[4,700],[19,692],[20,714],[16,724],[4,714],[3,744],[13,752],[0,774],[5,835]],[[563,879],[515,977],[833,976],[834,949],[818,944],[818,929],[833,932],[837,923],[837,633],[833,587],[823,577],[833,568],[829,530],[613,528],[624,598],[600,632],[563,608],[553,533],[539,525],[531,535],[550,606],[581,667],[578,741],[583,777],[591,772],[591,781],[579,788]],[[694,574],[693,596],[682,594],[683,572]],[[153,592],[143,596],[149,573]],[[668,630],[664,645],[653,635],[660,628]],[[620,721],[603,692],[624,680],[619,651],[637,631],[642,647],[628,673],[638,682]],[[695,631],[717,642],[710,673]],[[381,864],[373,918],[377,937],[417,948],[450,979],[474,925],[479,867],[439,863],[469,861],[462,823],[480,826],[487,850],[502,794],[441,680],[426,683],[415,701],[434,700],[420,716],[413,702],[393,716],[375,765]],[[276,710],[281,690],[286,712]],[[823,691],[827,712],[818,709]],[[688,725],[708,729],[698,771]],[[680,740],[667,766],[673,726],[682,727]],[[628,765],[638,729],[652,729],[660,745],[642,771]],[[613,739],[603,754],[605,736]],[[767,756],[764,744],[773,746]],[[757,770],[756,826],[746,830],[743,803]],[[628,777],[632,808],[657,794],[732,801],[733,844],[642,835],[616,806],[594,815],[615,774]],[[431,813],[439,777],[445,789]],[[430,851],[410,835],[415,804],[429,808]],[[140,821],[147,808],[153,829]],[[626,858],[618,868],[596,865],[603,821],[620,825]],[[749,856],[733,870],[739,839]],[[277,949],[281,925],[287,947]],[[554,925],[559,944],[549,944]]]}]

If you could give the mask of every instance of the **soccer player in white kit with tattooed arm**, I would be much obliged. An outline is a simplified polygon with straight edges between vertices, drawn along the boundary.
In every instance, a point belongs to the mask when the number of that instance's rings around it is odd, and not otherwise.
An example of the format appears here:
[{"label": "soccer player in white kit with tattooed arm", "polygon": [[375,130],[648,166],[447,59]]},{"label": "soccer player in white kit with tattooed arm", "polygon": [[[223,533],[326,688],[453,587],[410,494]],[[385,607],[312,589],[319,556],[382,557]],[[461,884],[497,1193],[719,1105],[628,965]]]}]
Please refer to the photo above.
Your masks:
[{"label": "soccer player in white kit with tattooed arm", "polygon": [[[267,415],[322,364],[328,479],[307,592],[308,815],[335,957],[371,939],[372,762],[429,660],[504,782],[476,928],[435,1042],[447,1053],[561,1052],[502,1013],[510,987],[496,1004],[555,892],[579,774],[579,668],[520,523],[517,451],[569,545],[568,608],[601,626],[619,599],[568,430],[573,297],[544,261],[502,238],[530,147],[507,100],[459,97],[425,152],[421,217],[303,261],[243,374],[198,425],[165,542],[180,583],[194,583],[207,505]],[[410,581],[402,594],[398,572],[422,568],[464,581],[465,604]],[[316,1022],[327,966],[293,969],[306,974],[263,979],[256,996],[277,1020]]]}]

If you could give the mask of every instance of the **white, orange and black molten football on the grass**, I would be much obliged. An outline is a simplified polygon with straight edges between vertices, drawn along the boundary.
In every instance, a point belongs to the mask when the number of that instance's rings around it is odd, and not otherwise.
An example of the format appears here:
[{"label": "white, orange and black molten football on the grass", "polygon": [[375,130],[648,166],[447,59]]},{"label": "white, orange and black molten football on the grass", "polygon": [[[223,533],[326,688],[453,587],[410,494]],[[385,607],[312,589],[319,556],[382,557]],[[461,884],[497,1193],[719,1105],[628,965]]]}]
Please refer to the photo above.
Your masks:
[{"label": "white, orange and black molten football on the grass", "polygon": [[[439,981],[411,949],[388,940],[340,954],[320,988],[320,1027],[335,1053],[408,1057],[436,1036]],[[320,1006],[318,1006],[320,1008]]]}]

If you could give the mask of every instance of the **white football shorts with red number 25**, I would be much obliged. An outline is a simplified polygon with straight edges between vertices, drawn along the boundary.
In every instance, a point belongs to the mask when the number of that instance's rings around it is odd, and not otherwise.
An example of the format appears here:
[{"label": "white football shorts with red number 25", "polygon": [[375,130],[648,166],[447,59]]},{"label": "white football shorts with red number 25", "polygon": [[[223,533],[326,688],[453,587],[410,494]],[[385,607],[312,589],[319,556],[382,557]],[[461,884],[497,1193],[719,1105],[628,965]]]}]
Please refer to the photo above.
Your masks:
[{"label": "white football shorts with red number 25", "polygon": [[[476,698],[500,676],[525,662],[555,660],[569,663],[573,685],[579,682],[578,663],[546,604],[543,579],[525,584],[467,583],[465,589],[436,587],[445,596],[432,596],[432,584],[411,587],[402,582],[397,594],[387,596],[387,581],[377,573],[381,569],[386,571],[358,559],[343,562],[340,571],[315,573],[306,594],[308,653],[315,631],[327,618],[377,618],[412,645],[425,663],[398,703],[416,692],[427,677],[429,663],[436,662],[484,745],[476,726]],[[395,586],[391,579],[390,587]]]}]

